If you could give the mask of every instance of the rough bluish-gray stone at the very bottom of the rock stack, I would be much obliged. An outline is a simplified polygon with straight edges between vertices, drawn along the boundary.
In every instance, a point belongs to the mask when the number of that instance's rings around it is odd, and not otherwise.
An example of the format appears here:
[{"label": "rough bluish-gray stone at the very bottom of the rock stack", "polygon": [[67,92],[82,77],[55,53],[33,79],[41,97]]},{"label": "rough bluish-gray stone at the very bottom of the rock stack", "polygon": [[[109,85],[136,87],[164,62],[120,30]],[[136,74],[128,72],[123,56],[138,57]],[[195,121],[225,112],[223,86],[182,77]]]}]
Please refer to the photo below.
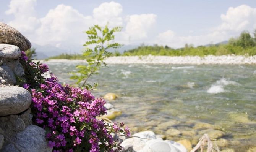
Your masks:
[{"label": "rough bluish-gray stone at the very bottom of the rock stack", "polygon": [[[28,126],[24,131],[17,133],[13,142],[17,143],[22,152],[52,152],[47,146],[45,130],[36,125]],[[13,144],[3,147],[1,152],[19,152]]]}]

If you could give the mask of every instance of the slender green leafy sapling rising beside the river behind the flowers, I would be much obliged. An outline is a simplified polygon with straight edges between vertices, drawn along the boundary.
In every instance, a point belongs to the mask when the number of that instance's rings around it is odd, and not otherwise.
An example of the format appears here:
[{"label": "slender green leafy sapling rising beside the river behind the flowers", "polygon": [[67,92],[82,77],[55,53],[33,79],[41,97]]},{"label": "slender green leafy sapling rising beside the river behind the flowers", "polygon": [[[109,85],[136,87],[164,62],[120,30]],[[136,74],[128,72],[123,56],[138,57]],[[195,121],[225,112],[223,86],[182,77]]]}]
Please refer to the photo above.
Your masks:
[{"label": "slender green leafy sapling rising beside the river behind the flowers", "polygon": [[[98,71],[102,65],[107,66],[104,59],[110,57],[112,53],[107,49],[120,48],[122,45],[113,42],[115,39],[115,32],[120,32],[122,27],[114,27],[111,30],[105,25],[104,28],[99,25],[94,25],[89,28],[85,33],[88,35],[88,41],[85,42],[85,51],[83,56],[86,57],[87,65],[77,65],[78,71],[72,73],[71,79],[77,80],[76,84],[86,89],[94,89],[97,87],[97,83],[94,83],[94,87],[87,84],[87,80],[93,75],[98,74]],[[82,83],[81,83],[82,82]]]}]

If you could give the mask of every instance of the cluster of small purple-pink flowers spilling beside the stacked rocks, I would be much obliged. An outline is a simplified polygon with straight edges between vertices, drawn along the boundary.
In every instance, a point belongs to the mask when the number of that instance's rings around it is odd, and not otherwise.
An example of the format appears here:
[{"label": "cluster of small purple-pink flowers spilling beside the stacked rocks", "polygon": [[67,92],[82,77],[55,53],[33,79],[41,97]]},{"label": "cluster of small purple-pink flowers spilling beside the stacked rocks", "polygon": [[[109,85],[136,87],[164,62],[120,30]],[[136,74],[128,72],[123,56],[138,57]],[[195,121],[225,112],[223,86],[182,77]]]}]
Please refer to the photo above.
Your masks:
[{"label": "cluster of small purple-pink flowers spilling beside the stacked rocks", "polygon": [[[24,53],[20,59],[27,61]],[[49,71],[44,64],[35,66],[30,62],[26,66],[34,67],[42,74]],[[97,116],[106,114],[106,102],[102,98],[95,98],[88,90],[62,86],[55,76],[35,82],[40,83],[26,83],[23,87],[31,92],[34,123],[46,130],[48,146],[53,147],[53,152],[114,152],[121,147],[110,133],[124,131],[130,136],[128,127],[124,130],[120,128],[124,126],[123,122],[120,127],[117,123],[109,127],[103,120],[97,119]]]}]

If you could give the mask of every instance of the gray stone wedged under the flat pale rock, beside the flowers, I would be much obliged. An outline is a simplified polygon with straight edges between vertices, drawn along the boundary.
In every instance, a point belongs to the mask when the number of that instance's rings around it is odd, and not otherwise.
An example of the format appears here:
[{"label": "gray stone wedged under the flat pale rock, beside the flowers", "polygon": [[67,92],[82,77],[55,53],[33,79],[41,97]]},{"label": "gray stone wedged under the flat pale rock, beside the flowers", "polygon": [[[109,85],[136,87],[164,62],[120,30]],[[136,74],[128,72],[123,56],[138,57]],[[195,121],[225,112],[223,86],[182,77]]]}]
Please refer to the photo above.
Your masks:
[{"label": "gray stone wedged under the flat pale rock, beside the flowers", "polygon": [[24,69],[18,59],[3,59],[3,65],[10,67],[17,76],[24,75]]}]

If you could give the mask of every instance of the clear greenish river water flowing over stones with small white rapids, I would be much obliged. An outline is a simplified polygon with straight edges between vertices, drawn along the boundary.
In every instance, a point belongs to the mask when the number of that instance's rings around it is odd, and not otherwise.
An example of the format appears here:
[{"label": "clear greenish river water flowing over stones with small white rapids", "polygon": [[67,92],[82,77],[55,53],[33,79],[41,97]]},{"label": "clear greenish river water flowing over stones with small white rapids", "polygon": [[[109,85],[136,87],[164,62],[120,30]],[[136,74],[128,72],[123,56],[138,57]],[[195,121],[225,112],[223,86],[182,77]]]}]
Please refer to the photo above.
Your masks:
[{"label": "clear greenish river water flowing over stones with small white rapids", "polygon": [[[72,84],[71,71],[81,62],[45,62],[60,82]],[[170,140],[192,144],[207,131],[223,131],[216,142],[221,149],[246,151],[256,146],[256,65],[110,64],[90,82],[92,93],[109,101],[123,114],[132,133],[151,130]],[[181,133],[173,136],[170,129]]]}]

